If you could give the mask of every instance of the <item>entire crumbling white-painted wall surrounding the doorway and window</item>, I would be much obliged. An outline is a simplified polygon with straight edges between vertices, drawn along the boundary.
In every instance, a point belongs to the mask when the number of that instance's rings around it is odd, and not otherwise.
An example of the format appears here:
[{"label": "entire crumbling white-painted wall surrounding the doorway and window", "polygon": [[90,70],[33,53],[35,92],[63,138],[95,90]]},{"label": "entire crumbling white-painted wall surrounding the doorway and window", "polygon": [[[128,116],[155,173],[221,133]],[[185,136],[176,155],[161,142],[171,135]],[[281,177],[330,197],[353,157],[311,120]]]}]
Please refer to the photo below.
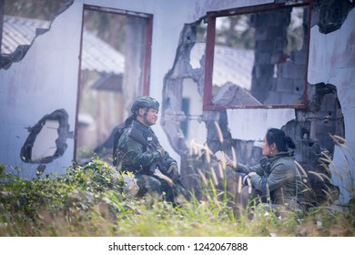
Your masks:
[{"label": "entire crumbling white-painted wall surrounding the doorway and window", "polygon": [[[258,160],[260,148],[255,141],[262,139],[266,129],[271,126],[284,128],[298,140],[299,148],[307,148],[298,152],[299,160],[305,151],[315,155],[320,153],[321,148],[329,148],[331,151],[330,140],[324,144],[315,142],[326,140],[320,138],[324,132],[344,136],[350,148],[355,151],[355,135],[350,131],[355,124],[355,49],[352,47],[355,44],[355,13],[351,1],[314,1],[309,35],[308,109],[202,111],[204,59],[200,59],[200,66],[190,66],[190,52],[196,43],[196,22],[202,20],[209,11],[270,3],[274,1],[74,1],[73,5],[56,17],[50,31],[35,38],[34,44],[21,61],[6,70],[0,69],[3,120],[0,128],[0,163],[9,169],[23,168],[23,175],[35,177],[37,168],[43,167],[20,159],[21,148],[29,135],[28,130],[58,109],[64,109],[67,113],[67,132],[76,130],[78,57],[84,5],[154,15],[149,94],[162,103],[161,122],[154,130],[163,147],[177,158],[186,176],[190,174],[189,166],[185,165],[188,162],[190,141],[185,138],[180,127],[183,120],[187,120],[190,132],[198,130],[197,136],[203,136],[200,140],[214,149],[220,147],[215,124],[218,122],[224,134],[224,145],[236,148],[238,158],[249,163]],[[193,92],[189,91],[190,86]],[[233,91],[233,96],[238,95],[237,90],[226,87],[226,91]],[[227,92],[224,93],[226,95]],[[186,116],[181,100],[184,95],[194,95],[191,100],[198,104],[195,107],[200,110]],[[219,100],[220,97],[214,99]],[[196,130],[191,130],[194,128]],[[65,153],[46,164],[46,172],[63,172],[72,163],[74,139],[67,138],[66,144]],[[335,148],[334,159],[339,163],[341,155],[341,151]],[[350,163],[354,169],[354,163]],[[344,199],[349,196],[344,193]]]}]

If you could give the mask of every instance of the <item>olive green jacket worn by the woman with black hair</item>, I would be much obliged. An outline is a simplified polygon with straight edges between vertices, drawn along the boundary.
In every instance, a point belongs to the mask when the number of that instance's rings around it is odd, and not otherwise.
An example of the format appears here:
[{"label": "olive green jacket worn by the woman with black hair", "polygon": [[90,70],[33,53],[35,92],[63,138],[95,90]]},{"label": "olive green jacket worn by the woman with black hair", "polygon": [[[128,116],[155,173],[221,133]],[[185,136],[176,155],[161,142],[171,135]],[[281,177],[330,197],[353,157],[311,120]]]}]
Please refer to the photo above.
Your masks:
[{"label": "olive green jacket worn by the woman with black hair", "polygon": [[302,182],[299,170],[292,158],[293,151],[281,152],[272,158],[263,158],[253,167],[238,163],[236,170],[248,174],[252,187],[269,196],[273,204],[297,206],[302,202]]}]

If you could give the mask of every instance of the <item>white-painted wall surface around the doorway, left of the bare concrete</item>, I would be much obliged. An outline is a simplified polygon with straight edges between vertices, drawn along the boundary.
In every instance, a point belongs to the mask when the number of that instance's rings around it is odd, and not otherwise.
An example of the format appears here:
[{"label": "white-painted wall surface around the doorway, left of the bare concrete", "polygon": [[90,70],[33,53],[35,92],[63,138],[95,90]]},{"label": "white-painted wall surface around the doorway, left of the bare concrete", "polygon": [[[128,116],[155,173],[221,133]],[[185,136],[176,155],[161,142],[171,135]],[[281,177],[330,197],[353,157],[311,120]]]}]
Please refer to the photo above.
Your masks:
[{"label": "white-painted wall surface around the doorway, left of the bare concrete", "polygon": [[[150,95],[161,101],[163,78],[173,66],[178,38],[185,23],[206,15],[209,10],[247,5],[249,1],[203,0],[76,0],[58,15],[50,30],[35,38],[22,61],[0,70],[0,163],[6,168],[23,169],[22,176],[35,177],[38,164],[20,159],[21,148],[33,127],[45,115],[64,108],[69,115],[70,131],[76,124],[76,93],[79,68],[80,34],[84,5],[97,5],[121,10],[153,14]],[[250,1],[262,3],[265,1]],[[250,3],[249,2],[249,3]],[[162,145],[179,157],[167,142],[162,128],[154,127]],[[46,172],[64,173],[72,164],[74,139],[66,141],[63,157],[46,164]]]}]

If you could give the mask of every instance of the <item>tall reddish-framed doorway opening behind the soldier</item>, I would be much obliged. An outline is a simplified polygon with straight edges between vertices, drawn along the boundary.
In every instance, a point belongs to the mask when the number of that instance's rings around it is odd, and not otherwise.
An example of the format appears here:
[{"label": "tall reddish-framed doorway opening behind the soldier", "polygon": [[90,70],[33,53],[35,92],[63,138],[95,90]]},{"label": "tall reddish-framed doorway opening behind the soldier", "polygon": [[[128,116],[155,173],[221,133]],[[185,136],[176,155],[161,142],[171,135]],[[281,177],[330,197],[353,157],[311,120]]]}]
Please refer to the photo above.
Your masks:
[{"label": "tall reddish-framed doorway opening behind the soldier", "polygon": [[85,5],[77,95],[77,163],[112,160],[113,132],[148,94],[152,15]]}]

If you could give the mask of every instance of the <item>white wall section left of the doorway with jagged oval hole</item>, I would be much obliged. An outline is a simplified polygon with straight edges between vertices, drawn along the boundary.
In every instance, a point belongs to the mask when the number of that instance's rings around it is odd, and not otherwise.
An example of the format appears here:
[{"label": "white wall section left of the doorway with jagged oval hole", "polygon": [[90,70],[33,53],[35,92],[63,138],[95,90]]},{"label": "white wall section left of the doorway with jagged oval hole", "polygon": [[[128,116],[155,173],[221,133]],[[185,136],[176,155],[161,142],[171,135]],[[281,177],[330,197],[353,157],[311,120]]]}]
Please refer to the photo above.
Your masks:
[{"label": "white wall section left of the doorway with jagged oval hole", "polygon": [[[20,175],[27,178],[44,168],[46,173],[64,173],[73,160],[82,7],[76,2],[57,15],[22,59],[0,69],[0,163],[8,170],[22,169]],[[47,127],[44,117],[62,124]],[[29,153],[28,145],[42,127],[56,128],[53,144],[58,150],[49,153],[51,160],[45,156],[43,162],[28,163],[31,156],[41,158]]]}]

